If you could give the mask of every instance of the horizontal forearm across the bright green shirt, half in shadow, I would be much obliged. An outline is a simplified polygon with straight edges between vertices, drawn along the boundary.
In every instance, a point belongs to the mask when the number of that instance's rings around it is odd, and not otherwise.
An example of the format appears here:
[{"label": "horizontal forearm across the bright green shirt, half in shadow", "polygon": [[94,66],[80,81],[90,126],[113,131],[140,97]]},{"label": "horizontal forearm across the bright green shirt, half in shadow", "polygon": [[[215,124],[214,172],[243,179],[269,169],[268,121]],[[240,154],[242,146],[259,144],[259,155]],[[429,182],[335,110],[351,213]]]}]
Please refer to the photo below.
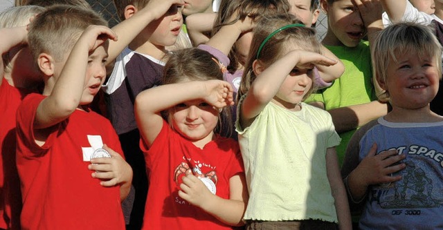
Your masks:
[{"label": "horizontal forearm across the bright green shirt, half in shadow", "polygon": [[337,133],[359,128],[364,124],[388,113],[388,105],[379,101],[334,108],[328,111]]}]

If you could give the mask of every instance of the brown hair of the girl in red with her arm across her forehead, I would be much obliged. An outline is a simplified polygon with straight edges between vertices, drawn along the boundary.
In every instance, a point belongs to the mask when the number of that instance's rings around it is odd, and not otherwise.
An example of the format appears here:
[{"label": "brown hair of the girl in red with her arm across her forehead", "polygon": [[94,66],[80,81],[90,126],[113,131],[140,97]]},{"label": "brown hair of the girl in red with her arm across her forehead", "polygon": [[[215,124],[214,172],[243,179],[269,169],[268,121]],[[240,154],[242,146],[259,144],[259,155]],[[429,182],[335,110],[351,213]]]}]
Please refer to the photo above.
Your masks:
[{"label": "brown hair of the girl in red with her arm across her forehead", "polygon": [[[174,84],[186,81],[206,81],[210,79],[223,80],[223,73],[216,57],[199,48],[185,48],[171,52],[168,62],[163,69],[163,84]],[[170,122],[170,111],[165,111],[163,117]],[[215,127],[215,133],[224,137],[233,132],[231,124],[230,106],[223,108],[219,113],[219,124]]]}]

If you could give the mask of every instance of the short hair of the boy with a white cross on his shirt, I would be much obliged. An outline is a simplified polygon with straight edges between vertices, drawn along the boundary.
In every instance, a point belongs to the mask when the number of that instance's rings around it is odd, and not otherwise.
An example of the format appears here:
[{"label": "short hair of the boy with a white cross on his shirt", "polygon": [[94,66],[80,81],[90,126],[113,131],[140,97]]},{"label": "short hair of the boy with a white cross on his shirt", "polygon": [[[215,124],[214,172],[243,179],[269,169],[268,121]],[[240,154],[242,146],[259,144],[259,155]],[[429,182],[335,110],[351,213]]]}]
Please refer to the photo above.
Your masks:
[{"label": "short hair of the boy with a white cross on his shirt", "polygon": [[45,52],[55,61],[62,60],[90,25],[107,26],[107,21],[93,10],[78,6],[48,7],[30,23],[28,43],[34,59]]}]

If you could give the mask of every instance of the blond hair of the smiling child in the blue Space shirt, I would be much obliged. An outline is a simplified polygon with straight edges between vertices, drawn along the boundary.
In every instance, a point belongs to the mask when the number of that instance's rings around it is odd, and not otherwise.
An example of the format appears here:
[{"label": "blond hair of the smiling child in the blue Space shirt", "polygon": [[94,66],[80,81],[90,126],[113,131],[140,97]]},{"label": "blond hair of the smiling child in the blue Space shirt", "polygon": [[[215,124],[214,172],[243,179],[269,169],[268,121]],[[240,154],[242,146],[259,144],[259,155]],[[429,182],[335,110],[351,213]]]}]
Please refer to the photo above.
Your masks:
[{"label": "blond hair of the smiling child in the blue Space shirt", "polygon": [[[374,79],[386,82],[388,67],[404,54],[432,57],[442,78],[442,45],[435,37],[433,28],[414,22],[401,22],[381,30],[371,45]],[[388,97],[388,92],[378,96]]]}]

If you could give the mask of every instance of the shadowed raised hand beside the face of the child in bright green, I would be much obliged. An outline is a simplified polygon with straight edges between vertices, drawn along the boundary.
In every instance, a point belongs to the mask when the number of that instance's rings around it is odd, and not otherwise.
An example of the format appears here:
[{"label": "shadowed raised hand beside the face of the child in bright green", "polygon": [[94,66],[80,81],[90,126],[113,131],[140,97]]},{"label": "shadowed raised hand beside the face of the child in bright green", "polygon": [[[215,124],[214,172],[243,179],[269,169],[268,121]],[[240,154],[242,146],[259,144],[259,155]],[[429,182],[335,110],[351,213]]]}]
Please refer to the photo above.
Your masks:
[{"label": "shadowed raised hand beside the face of the child in bright green", "polygon": [[383,13],[383,6],[380,0],[351,0],[352,4],[359,8],[361,19],[365,23],[366,28],[371,23],[377,20],[381,20],[381,14]]}]

